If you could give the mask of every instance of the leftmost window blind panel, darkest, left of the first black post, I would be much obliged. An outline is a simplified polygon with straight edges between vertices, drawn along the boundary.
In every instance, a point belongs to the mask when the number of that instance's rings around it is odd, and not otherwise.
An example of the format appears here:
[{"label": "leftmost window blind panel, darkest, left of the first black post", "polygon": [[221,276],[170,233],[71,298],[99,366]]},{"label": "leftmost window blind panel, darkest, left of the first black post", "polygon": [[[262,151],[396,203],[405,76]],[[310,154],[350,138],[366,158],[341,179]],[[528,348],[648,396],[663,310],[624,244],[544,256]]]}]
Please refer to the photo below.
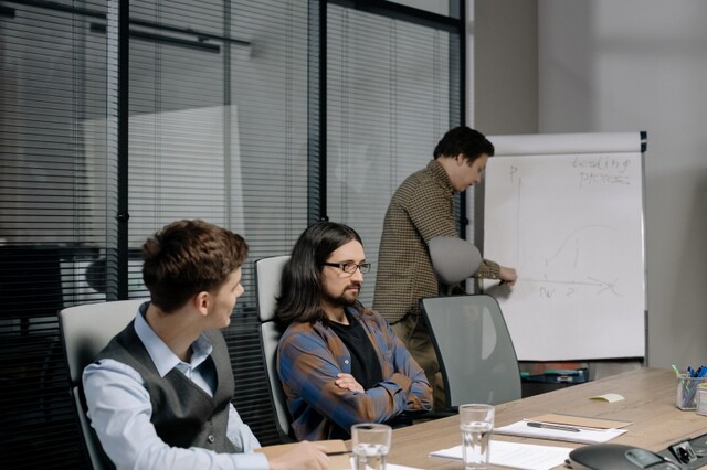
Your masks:
[{"label": "leftmost window blind panel, darkest, left of the first black post", "polygon": [[2,464],[83,468],[56,312],[105,299],[106,2],[0,8]]}]

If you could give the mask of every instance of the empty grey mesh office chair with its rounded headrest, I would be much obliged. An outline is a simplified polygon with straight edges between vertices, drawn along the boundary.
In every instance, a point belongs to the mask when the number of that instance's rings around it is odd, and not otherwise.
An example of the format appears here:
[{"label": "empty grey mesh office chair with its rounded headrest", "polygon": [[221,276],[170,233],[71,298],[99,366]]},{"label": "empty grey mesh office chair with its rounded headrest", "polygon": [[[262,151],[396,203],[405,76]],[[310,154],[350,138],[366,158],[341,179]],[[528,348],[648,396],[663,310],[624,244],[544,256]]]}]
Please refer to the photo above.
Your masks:
[{"label": "empty grey mesh office chair with its rounded headrest", "polygon": [[498,302],[487,295],[445,296],[447,286],[469,278],[482,260],[471,243],[454,237],[430,242],[430,257],[440,280],[440,297],[421,300],[432,344],[440,361],[445,407],[465,403],[519,399],[520,370]]}]

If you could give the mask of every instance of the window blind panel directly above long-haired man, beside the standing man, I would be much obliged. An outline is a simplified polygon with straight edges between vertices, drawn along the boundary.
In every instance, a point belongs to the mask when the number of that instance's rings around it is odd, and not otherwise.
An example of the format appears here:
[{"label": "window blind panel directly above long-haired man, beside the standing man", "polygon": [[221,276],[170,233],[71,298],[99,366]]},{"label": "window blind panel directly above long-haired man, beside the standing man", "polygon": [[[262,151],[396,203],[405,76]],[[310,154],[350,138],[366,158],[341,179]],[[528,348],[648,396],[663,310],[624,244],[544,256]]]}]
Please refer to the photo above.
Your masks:
[{"label": "window blind panel directly above long-haired man, beside the standing man", "polygon": [[390,197],[461,124],[458,41],[458,33],[328,6],[327,214],[363,239],[368,307]]}]

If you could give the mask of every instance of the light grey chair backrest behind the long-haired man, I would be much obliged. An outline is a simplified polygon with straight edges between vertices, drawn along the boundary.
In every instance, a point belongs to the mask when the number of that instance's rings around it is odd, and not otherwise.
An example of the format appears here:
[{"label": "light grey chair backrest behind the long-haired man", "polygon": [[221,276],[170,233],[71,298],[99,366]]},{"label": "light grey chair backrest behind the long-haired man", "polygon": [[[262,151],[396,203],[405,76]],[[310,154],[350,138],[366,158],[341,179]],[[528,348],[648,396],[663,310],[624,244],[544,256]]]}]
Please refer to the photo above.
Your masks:
[{"label": "light grey chair backrest behind the long-haired man", "polygon": [[276,298],[279,295],[279,278],[289,256],[273,256],[255,261],[255,291],[257,292],[257,319],[261,328],[261,344],[265,364],[271,403],[275,410],[279,438],[293,441],[289,425],[292,418],[287,412],[287,399],[277,376],[277,343],[281,331],[275,322]]}]

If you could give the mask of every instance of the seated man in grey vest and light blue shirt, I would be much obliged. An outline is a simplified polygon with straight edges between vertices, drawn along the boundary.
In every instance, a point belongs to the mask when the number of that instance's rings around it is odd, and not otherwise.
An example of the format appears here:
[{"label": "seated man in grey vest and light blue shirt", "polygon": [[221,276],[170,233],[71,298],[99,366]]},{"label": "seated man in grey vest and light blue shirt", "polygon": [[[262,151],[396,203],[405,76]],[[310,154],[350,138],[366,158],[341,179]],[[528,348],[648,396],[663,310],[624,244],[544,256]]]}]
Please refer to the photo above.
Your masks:
[{"label": "seated man in grey vest and light blue shirt", "polygon": [[[243,293],[247,245],[202,221],[167,225],[143,246],[150,301],[83,374],[88,417],[118,469],[323,469],[300,442],[273,459],[231,404],[223,335]],[[96,319],[101,321],[101,319]]]}]

